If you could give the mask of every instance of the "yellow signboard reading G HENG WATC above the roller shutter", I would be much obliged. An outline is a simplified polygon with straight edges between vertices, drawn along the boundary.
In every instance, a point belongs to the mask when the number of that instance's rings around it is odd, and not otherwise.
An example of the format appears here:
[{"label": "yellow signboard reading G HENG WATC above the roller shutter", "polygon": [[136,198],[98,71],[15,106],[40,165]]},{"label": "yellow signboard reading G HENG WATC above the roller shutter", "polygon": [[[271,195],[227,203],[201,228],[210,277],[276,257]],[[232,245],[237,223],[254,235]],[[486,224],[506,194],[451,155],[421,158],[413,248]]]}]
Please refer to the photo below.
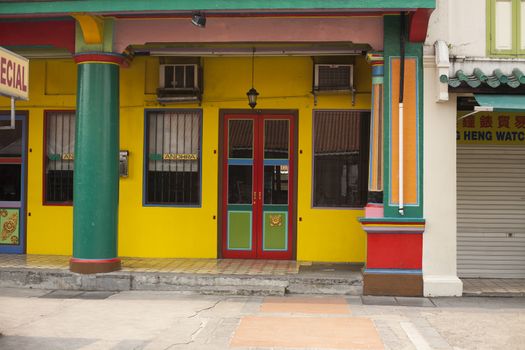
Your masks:
[{"label": "yellow signboard reading G HENG WATC above the roller shutter", "polygon": [[[467,112],[458,114],[458,118]],[[524,145],[525,113],[479,112],[458,121],[458,144]]]}]

